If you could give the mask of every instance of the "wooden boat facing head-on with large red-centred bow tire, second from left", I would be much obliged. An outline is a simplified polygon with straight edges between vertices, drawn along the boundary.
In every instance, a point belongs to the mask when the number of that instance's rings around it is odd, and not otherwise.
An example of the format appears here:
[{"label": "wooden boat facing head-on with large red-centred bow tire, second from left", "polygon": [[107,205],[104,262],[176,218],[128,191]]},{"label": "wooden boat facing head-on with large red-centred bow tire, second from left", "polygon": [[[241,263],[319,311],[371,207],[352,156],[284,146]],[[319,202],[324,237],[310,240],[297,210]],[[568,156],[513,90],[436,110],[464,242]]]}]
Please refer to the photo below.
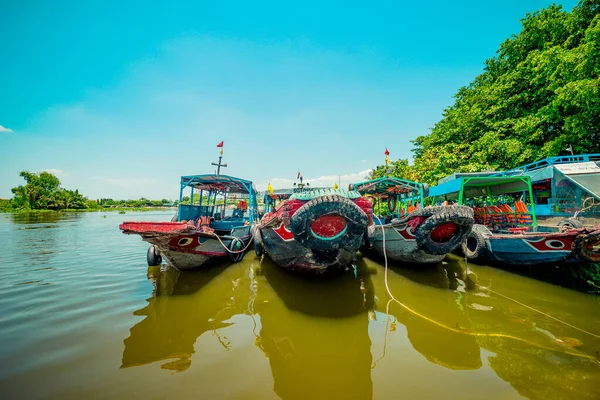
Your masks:
[{"label": "wooden boat facing head-on with large red-centred bow tire, second from left", "polygon": [[265,194],[266,214],[254,235],[257,255],[264,249],[283,268],[316,274],[354,262],[371,203],[355,191],[298,186]]}]

